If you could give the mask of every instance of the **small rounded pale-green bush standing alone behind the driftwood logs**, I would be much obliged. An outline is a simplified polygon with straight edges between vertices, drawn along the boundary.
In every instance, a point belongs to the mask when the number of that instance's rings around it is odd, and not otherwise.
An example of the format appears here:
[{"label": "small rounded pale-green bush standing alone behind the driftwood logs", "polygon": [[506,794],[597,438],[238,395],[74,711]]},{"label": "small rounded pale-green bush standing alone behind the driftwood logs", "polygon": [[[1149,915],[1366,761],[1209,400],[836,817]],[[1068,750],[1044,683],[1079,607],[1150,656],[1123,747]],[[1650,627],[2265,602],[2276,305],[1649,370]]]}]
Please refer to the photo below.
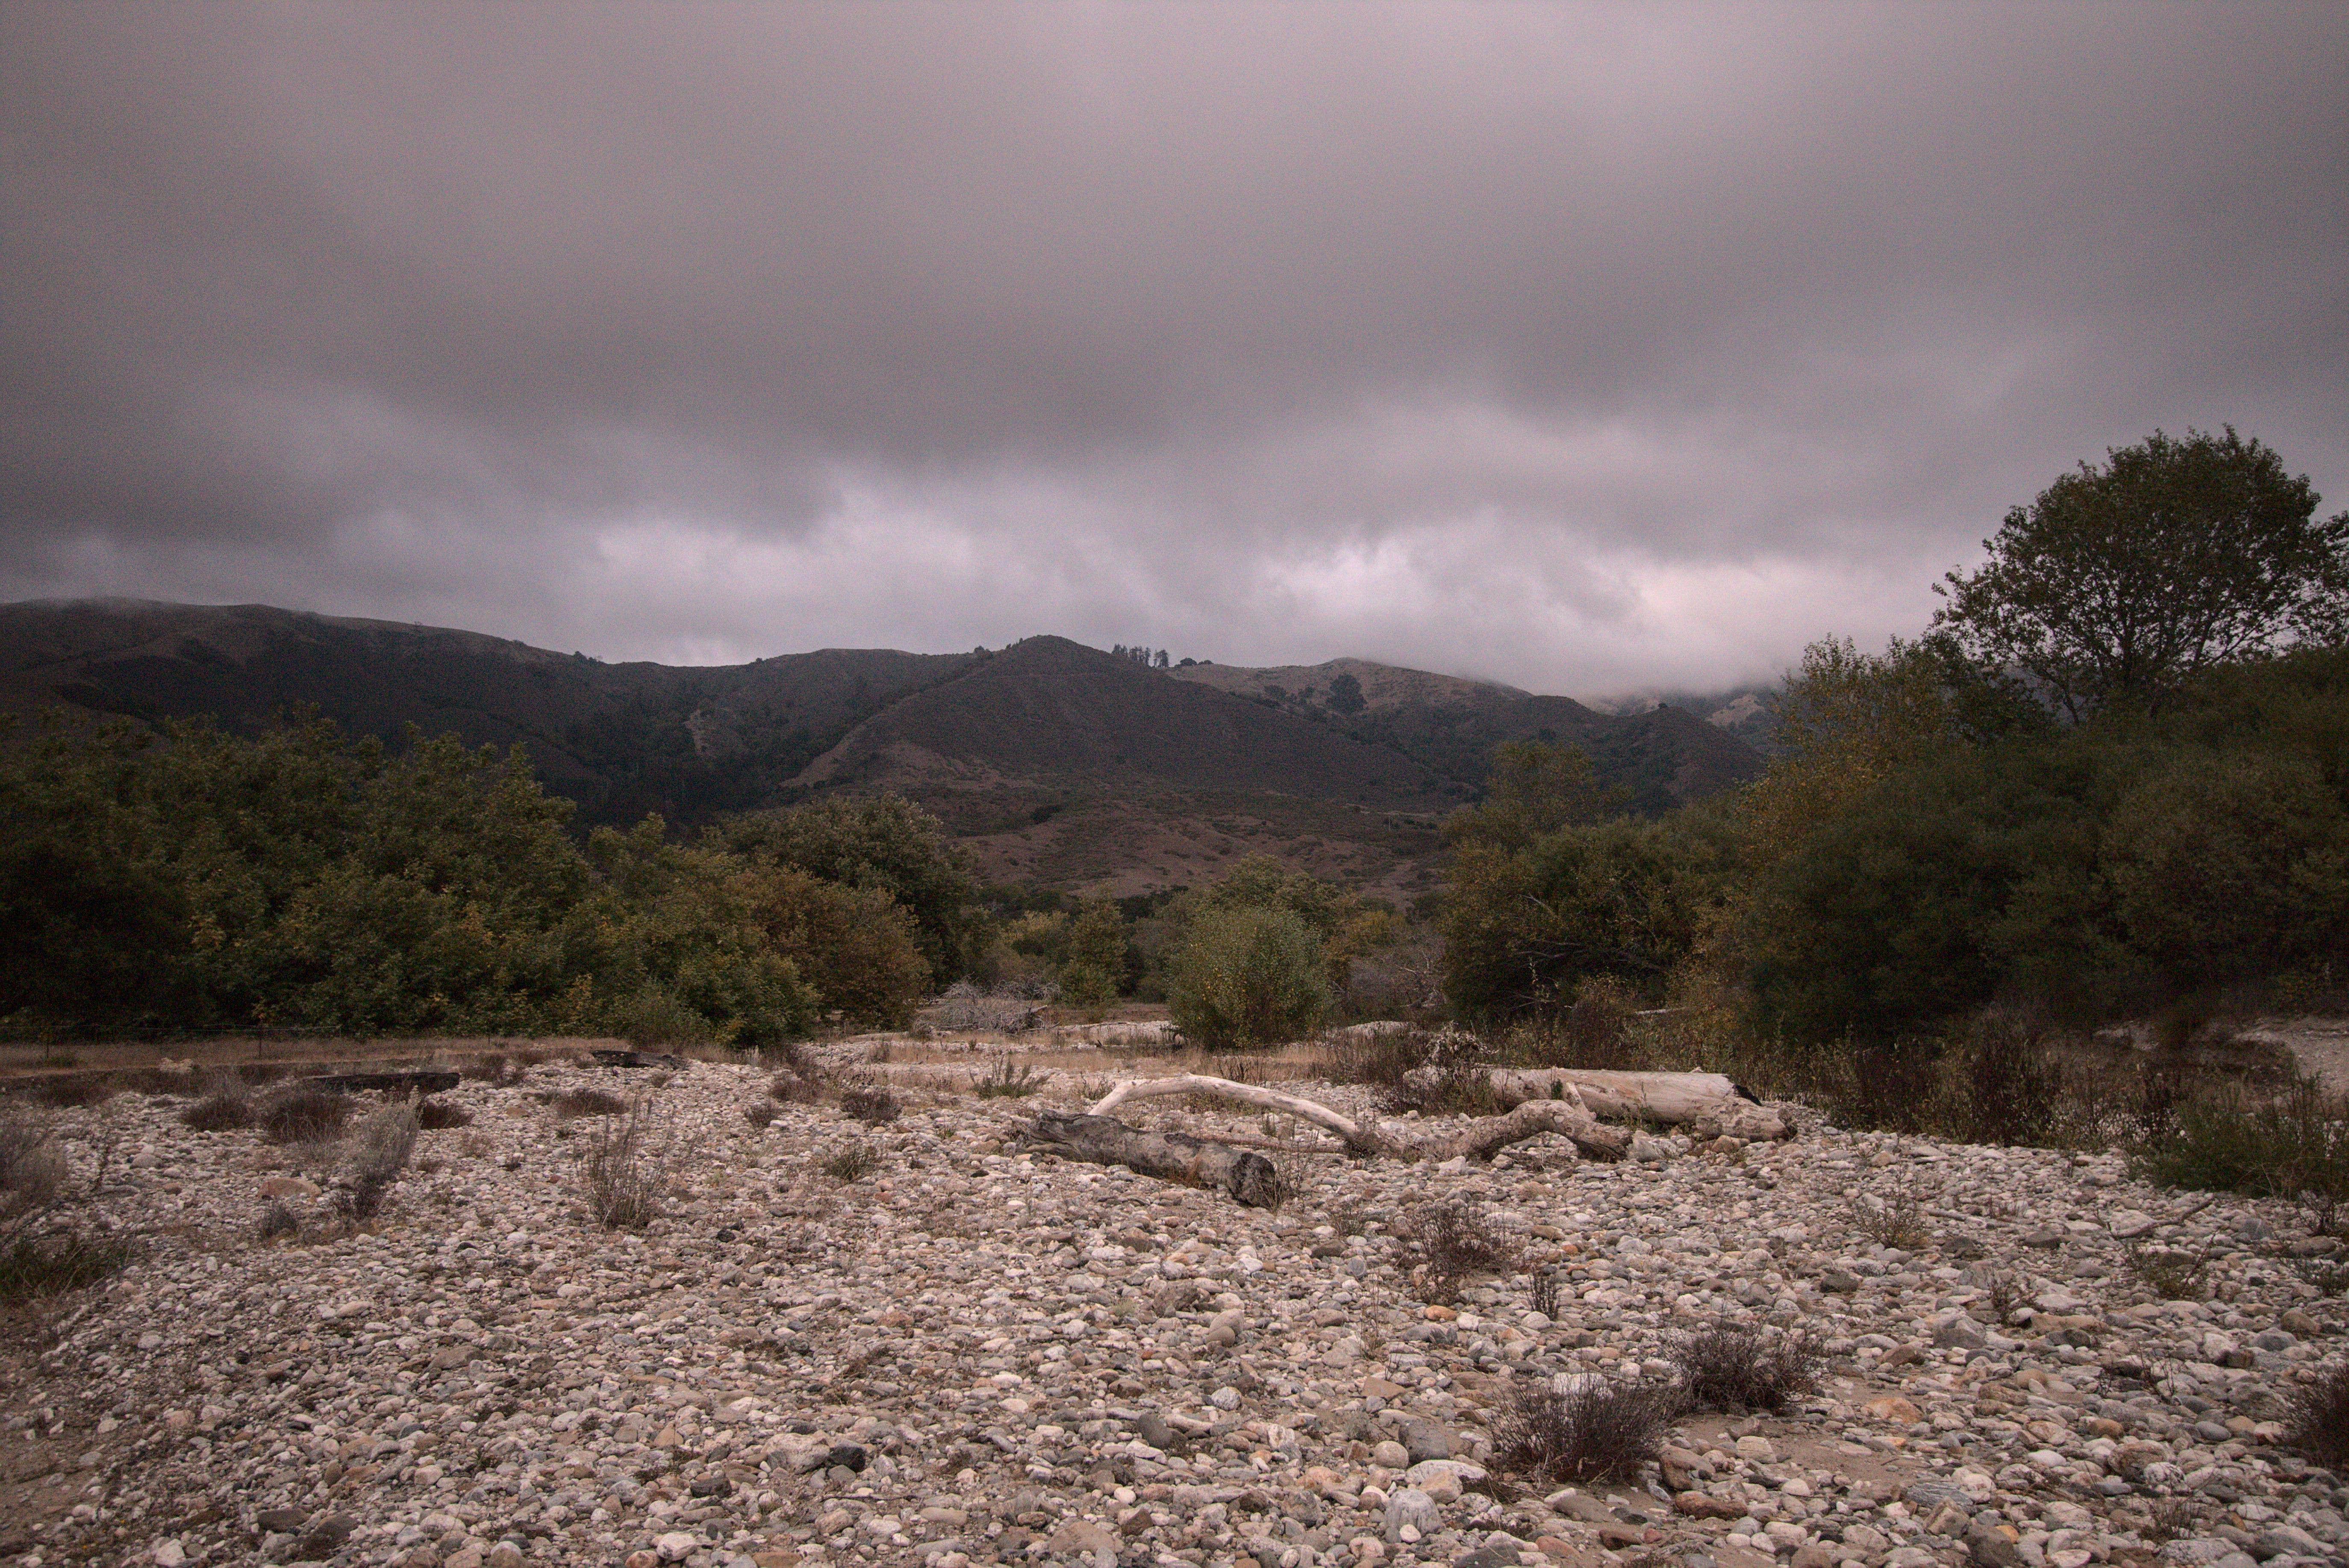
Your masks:
[{"label": "small rounded pale-green bush standing alone behind the driftwood logs", "polygon": [[1322,946],[1287,908],[1207,908],[1167,967],[1167,1012],[1207,1049],[1308,1035],[1330,1009]]}]

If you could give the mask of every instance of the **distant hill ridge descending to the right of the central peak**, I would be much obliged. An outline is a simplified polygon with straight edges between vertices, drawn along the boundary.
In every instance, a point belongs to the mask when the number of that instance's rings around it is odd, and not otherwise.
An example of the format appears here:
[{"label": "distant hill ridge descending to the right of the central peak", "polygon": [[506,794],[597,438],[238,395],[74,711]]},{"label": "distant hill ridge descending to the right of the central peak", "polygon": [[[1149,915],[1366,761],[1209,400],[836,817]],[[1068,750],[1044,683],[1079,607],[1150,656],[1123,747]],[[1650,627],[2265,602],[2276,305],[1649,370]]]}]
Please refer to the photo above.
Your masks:
[{"label": "distant hill ridge descending to the right of the central peak", "polygon": [[1189,664],[1170,674],[1391,746],[1470,789],[1485,784],[1492,749],[1508,739],[1581,746],[1600,779],[1640,812],[1670,810],[1762,770],[1752,746],[1682,709],[1600,714],[1571,697],[1369,660],[1280,669]]}]

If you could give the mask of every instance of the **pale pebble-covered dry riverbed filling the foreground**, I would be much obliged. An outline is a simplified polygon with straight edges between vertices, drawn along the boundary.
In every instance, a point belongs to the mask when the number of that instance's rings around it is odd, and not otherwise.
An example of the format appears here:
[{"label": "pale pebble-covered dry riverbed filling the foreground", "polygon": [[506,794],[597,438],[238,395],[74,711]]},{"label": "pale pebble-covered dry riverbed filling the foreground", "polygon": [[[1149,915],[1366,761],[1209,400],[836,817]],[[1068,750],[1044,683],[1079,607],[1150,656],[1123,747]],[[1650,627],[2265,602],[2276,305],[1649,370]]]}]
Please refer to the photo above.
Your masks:
[{"label": "pale pebble-covered dry riverbed filling the foreground", "polygon": [[[190,1131],[183,1099],[47,1113],[68,1207],[136,1261],[0,1366],[16,1563],[1924,1563],[2344,1561],[2349,1491],[2281,1446],[2340,1352],[2290,1204],[2109,1155],[1842,1134],[1560,1138],[1492,1164],[1283,1155],[1252,1211],[1029,1157],[1036,1099],[902,1091],[862,1127],[768,1075],[545,1063],[439,1096],[366,1228],[331,1148]],[[1076,1084],[1052,1077],[1066,1108]],[[646,1099],[644,1232],[580,1155]],[[1362,1110],[1358,1089],[1285,1084]],[[761,1113],[763,1115],[763,1113]],[[1287,1138],[1257,1115],[1135,1120]],[[853,1178],[824,1171],[869,1148]],[[1449,1305],[1393,1232],[1466,1202],[1520,1272]],[[263,1239],[272,1202],[303,1223]],[[1541,1314],[1536,1275],[1555,1277]],[[1442,1291],[1435,1291],[1442,1293]],[[2168,1298],[2180,1296],[2180,1298]],[[1809,1326],[1816,1394],[1696,1413],[1637,1483],[1506,1474],[1513,1390],[1661,1378],[1712,1322]]]}]

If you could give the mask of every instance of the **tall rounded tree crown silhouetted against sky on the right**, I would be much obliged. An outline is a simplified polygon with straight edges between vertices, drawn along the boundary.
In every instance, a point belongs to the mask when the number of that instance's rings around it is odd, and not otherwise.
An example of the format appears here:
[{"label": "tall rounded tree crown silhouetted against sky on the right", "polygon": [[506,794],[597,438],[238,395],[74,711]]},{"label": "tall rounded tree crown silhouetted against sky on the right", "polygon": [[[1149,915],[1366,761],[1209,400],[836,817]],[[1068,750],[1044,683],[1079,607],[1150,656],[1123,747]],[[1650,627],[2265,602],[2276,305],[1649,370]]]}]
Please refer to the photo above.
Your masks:
[{"label": "tall rounded tree crown silhouetted against sky on the right", "polygon": [[2159,430],[2006,514],[1973,573],[1950,573],[1933,624],[1976,662],[2025,671],[2081,718],[2161,707],[2182,681],[2290,641],[2349,631],[2349,514],[2274,451]]}]

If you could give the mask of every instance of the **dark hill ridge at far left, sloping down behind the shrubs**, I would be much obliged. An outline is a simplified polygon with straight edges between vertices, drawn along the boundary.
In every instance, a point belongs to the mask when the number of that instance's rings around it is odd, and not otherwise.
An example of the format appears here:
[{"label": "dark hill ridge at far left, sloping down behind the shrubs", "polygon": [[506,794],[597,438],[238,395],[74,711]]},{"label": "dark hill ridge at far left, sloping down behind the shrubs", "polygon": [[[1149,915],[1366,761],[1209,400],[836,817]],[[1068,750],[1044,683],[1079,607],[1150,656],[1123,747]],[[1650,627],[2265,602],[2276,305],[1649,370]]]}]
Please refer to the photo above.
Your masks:
[{"label": "dark hill ridge at far left, sloping down behind the shrubs", "polygon": [[592,822],[702,819],[766,805],[890,699],[970,655],[799,653],[756,664],[604,664],[477,631],[268,606],[0,606],[0,711],[66,707],[249,730],[315,707],[359,735],[416,723],[524,742]]}]

